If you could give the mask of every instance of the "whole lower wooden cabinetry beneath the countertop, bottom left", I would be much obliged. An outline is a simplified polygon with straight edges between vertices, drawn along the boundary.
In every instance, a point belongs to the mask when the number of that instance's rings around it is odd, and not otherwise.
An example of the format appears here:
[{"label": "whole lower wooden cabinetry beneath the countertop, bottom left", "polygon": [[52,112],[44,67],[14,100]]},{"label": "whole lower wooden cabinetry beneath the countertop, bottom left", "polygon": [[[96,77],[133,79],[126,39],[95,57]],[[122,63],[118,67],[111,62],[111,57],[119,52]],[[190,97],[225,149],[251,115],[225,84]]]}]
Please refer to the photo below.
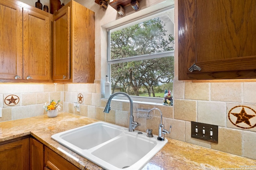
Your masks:
[{"label": "whole lower wooden cabinetry beneath the countertop, bottom left", "polygon": [[80,170],[33,137],[0,143],[0,170]]}]

